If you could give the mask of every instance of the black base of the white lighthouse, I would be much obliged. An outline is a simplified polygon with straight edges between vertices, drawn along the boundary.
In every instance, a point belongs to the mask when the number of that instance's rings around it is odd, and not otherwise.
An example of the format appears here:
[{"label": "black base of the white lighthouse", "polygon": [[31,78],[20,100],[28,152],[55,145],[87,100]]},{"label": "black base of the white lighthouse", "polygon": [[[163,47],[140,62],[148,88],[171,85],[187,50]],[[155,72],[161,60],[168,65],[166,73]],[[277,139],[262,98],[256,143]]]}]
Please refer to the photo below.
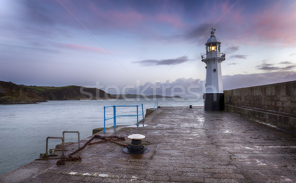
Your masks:
[{"label": "black base of the white lighthouse", "polygon": [[205,110],[224,110],[224,93],[205,93]]}]

